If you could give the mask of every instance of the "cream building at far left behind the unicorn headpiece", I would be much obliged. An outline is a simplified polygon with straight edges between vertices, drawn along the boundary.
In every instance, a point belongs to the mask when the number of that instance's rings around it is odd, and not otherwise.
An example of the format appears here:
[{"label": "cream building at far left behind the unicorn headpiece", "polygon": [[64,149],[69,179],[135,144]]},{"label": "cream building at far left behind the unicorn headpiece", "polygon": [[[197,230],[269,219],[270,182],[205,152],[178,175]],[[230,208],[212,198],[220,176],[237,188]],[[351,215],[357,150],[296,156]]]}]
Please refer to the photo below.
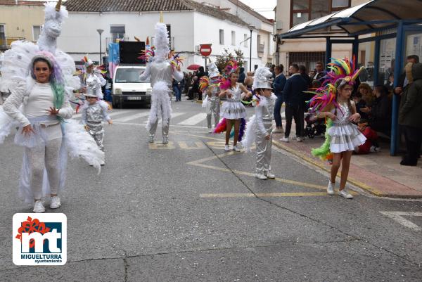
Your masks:
[{"label": "cream building at far left behind the unicorn headpiece", "polygon": [[37,41],[44,24],[44,1],[0,0],[0,51],[15,40]]}]

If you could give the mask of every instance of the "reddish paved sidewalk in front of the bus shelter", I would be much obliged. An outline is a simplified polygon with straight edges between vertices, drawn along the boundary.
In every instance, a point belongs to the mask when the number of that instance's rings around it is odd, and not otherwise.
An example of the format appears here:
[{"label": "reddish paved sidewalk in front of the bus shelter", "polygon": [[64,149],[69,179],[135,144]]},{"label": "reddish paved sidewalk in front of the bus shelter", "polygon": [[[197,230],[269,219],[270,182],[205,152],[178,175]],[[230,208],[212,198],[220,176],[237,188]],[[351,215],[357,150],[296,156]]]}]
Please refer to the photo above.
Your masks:
[{"label": "reddish paved sidewalk in front of the bus shelter", "polygon": [[[292,129],[294,128],[293,122]],[[312,148],[318,148],[324,142],[322,136],[297,142],[295,139],[291,139],[295,137],[295,132],[292,130],[289,143],[279,141],[283,136],[283,134],[274,134],[273,143],[275,146],[312,165],[330,171],[328,162],[315,158],[311,154]],[[400,156],[390,156],[389,148],[383,148],[382,145],[381,152],[370,153],[369,155],[353,155],[348,181],[375,196],[422,198],[422,161],[418,162],[417,167],[405,167],[399,164],[400,160]]]}]

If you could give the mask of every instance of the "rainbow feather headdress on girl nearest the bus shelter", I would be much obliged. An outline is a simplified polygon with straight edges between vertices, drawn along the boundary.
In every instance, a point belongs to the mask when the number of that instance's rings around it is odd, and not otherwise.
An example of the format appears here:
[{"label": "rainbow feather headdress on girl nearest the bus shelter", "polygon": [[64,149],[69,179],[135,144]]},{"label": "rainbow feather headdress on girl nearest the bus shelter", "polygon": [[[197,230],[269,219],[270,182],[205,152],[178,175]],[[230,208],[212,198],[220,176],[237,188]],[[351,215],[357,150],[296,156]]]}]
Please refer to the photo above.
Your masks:
[{"label": "rainbow feather headdress on girl nearest the bus shelter", "polygon": [[324,77],[322,86],[315,91],[307,91],[307,93],[314,94],[314,97],[309,101],[312,112],[321,110],[327,105],[334,105],[335,108],[338,108],[336,102],[337,90],[345,84],[353,85],[364,68],[356,70],[356,65],[354,57],[352,61],[349,58],[344,58],[332,59],[332,62],[328,63],[331,72],[328,72]]}]

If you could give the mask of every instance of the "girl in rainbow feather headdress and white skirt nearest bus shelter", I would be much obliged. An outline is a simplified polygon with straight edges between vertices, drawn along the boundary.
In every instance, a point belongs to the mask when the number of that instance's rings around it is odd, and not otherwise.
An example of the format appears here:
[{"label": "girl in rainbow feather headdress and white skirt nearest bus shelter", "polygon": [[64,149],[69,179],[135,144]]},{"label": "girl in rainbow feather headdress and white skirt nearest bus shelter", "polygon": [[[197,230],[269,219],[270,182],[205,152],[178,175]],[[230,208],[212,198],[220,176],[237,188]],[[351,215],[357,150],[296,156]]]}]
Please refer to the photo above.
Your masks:
[{"label": "girl in rainbow feather headdress and white skirt nearest bus shelter", "polygon": [[[352,123],[359,122],[360,115],[350,96],[354,80],[359,77],[362,68],[354,70],[354,63],[350,62],[348,58],[333,60],[333,63],[330,63],[330,68],[333,70],[328,73],[331,82],[328,82],[324,88],[318,89],[319,94],[316,94],[310,102],[312,110],[316,111],[316,117],[329,119],[326,141],[321,148],[313,149],[312,155],[326,159],[328,155],[332,154],[331,177],[328,181],[327,193],[328,195],[334,194],[335,177],[341,164],[338,194],[343,198],[352,199],[353,196],[345,190],[350,159],[354,148],[364,144],[366,138],[359,132],[357,125]],[[331,122],[332,126],[330,126]]]}]

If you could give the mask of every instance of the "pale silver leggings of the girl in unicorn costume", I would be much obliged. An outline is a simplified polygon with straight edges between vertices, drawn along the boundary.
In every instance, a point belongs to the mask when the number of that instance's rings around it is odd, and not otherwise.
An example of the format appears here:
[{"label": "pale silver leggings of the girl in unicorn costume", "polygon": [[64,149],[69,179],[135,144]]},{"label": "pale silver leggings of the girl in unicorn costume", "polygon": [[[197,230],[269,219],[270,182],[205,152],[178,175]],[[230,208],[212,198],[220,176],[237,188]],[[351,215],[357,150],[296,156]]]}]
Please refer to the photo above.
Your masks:
[{"label": "pale silver leggings of the girl in unicorn costume", "polygon": [[53,139],[46,141],[46,146],[41,148],[25,148],[31,169],[31,188],[34,199],[39,200],[42,197],[42,179],[44,176],[44,167],[49,177],[51,194],[58,193],[59,171],[58,156],[62,139]]}]

